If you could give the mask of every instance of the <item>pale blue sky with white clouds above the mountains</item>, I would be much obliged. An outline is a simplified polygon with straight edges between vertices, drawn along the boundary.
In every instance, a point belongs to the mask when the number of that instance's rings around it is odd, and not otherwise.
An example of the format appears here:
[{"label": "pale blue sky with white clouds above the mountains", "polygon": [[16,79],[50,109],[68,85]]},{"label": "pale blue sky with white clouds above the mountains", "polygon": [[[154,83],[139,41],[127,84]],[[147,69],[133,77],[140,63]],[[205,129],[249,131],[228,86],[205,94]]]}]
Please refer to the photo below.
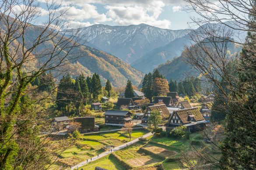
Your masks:
[{"label": "pale blue sky with white clouds above the mountains", "polygon": [[[39,0],[42,8],[40,20],[47,18],[45,0]],[[58,1],[56,1],[58,3]],[[182,10],[182,0],[62,0],[56,12],[67,10],[65,19],[70,27],[88,27],[93,24],[151,26],[178,30],[189,28],[187,22],[192,13]],[[40,24],[40,23],[39,23]]]}]

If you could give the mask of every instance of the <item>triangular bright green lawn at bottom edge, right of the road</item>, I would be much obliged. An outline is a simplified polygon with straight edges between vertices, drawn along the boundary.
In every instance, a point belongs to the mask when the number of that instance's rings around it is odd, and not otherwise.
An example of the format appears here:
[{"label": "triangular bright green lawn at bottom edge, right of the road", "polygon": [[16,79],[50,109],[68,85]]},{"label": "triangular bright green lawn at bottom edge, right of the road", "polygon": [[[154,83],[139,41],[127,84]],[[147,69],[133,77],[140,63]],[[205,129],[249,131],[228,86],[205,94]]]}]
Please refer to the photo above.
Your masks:
[{"label": "triangular bright green lawn at bottom edge, right of the road", "polygon": [[107,170],[125,170],[125,168],[119,162],[117,162],[113,156],[106,156],[100,160],[88,163],[87,165],[79,168],[79,170],[82,168],[83,170],[94,170],[95,167],[101,167]]}]

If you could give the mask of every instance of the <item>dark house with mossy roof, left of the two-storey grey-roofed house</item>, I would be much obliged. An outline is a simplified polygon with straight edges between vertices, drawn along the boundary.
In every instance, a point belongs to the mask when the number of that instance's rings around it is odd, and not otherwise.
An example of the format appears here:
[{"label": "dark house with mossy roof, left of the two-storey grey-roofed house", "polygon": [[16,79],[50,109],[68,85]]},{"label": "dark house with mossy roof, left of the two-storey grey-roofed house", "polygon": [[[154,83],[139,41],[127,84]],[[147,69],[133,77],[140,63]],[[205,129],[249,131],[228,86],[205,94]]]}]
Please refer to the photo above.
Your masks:
[{"label": "dark house with mossy roof, left of the two-storey grey-roofed house", "polygon": [[99,126],[95,125],[95,117],[74,117],[74,121],[81,123],[81,133],[97,132],[99,130]]}]

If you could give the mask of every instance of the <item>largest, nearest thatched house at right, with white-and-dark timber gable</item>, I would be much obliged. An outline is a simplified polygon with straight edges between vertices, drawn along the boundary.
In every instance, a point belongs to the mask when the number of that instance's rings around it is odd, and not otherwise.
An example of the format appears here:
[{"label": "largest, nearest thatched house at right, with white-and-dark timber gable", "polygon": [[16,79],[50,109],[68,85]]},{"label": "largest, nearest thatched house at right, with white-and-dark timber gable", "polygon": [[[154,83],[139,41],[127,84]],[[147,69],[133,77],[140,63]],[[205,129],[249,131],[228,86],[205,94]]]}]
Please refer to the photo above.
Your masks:
[{"label": "largest, nearest thatched house at right, with white-and-dark timber gable", "polygon": [[186,126],[189,132],[195,132],[204,129],[206,121],[203,119],[198,107],[181,109],[174,111],[170,115],[166,123],[166,131],[171,131],[181,125]]}]

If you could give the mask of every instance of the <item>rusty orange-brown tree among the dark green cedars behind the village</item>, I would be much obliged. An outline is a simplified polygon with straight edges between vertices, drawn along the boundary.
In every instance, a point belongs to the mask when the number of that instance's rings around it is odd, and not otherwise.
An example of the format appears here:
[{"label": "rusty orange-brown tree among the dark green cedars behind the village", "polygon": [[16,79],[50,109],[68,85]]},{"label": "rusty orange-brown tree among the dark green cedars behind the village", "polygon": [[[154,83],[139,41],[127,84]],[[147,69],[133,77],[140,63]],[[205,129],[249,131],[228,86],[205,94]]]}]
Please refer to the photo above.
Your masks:
[{"label": "rusty orange-brown tree among the dark green cedars behind the village", "polygon": [[154,96],[166,96],[169,92],[168,81],[165,78],[154,78],[152,88]]}]

